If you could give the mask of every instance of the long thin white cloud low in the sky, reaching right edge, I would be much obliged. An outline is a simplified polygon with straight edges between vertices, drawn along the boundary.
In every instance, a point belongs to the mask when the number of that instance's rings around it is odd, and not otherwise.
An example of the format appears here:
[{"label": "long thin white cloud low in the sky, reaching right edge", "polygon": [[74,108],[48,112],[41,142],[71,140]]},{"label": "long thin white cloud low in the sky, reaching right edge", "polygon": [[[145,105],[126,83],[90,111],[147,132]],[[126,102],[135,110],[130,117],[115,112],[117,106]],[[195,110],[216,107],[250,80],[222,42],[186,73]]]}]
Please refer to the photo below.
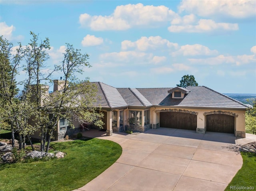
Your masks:
[{"label": "long thin white cloud low in the sky, reaching right edge", "polygon": [[188,59],[191,63],[194,64],[203,64],[203,65],[220,65],[220,64],[249,64],[255,63],[255,55],[237,55],[237,56],[224,56],[218,55],[217,57],[210,57],[205,59]]}]

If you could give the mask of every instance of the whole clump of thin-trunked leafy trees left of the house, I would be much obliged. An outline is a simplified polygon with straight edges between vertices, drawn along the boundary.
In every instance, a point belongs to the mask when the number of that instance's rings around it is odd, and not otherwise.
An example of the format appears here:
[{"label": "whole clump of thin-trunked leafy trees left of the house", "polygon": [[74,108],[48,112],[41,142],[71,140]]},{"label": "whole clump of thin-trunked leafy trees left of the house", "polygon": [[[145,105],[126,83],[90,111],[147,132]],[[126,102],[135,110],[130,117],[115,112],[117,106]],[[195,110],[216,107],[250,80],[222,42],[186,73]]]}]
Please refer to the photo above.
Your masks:
[{"label": "whole clump of thin-trunked leafy trees left of the house", "polygon": [[[85,67],[90,67],[88,54],[80,53],[70,44],[61,62],[55,65],[51,72],[45,73],[49,58],[47,49],[50,49],[49,39],[40,39],[38,35],[30,32],[32,39],[26,47],[21,44],[15,53],[12,53],[12,44],[1,37],[0,44],[0,122],[10,122],[12,129],[12,145],[14,146],[14,132],[18,132],[20,149],[25,144],[25,137],[30,140],[30,135],[35,131],[40,132],[41,151],[48,152],[54,130],[60,119],[65,118],[73,127],[72,121],[80,124],[93,122],[102,127],[100,118],[103,114],[97,112],[93,106],[96,96],[94,87],[88,78],[80,81],[77,74],[82,74]],[[26,79],[16,82],[20,61],[26,72]],[[48,70],[50,71],[50,70]],[[53,82],[52,73],[56,71],[64,76],[62,89],[49,94],[46,85]],[[21,93],[18,93],[17,85],[24,85]],[[47,146],[46,146],[47,142]],[[34,148],[32,147],[34,150]]]}]

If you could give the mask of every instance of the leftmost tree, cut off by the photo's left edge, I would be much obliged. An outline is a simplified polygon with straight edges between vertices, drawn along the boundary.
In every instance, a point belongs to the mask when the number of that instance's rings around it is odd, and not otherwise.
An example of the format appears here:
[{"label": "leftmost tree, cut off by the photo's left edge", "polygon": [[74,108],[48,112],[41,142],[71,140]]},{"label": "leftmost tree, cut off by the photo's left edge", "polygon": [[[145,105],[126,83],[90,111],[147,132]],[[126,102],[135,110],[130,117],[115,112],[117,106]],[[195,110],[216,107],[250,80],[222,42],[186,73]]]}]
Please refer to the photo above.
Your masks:
[{"label": "leftmost tree, cut off by the photo's left edge", "polygon": [[12,130],[12,146],[14,133],[19,126],[17,114],[20,113],[20,102],[16,98],[18,92],[16,75],[22,59],[21,45],[14,51],[12,43],[0,36],[0,122],[8,122]]}]

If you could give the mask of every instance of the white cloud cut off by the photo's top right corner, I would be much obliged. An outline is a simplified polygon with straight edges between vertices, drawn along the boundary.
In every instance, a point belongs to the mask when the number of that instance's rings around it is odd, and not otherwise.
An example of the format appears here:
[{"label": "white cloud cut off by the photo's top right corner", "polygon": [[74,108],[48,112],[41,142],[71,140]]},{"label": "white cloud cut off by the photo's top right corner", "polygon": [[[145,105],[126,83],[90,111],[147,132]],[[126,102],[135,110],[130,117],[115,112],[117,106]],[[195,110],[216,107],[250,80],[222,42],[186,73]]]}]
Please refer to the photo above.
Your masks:
[{"label": "white cloud cut off by the photo's top right corner", "polygon": [[182,0],[178,9],[180,12],[194,13],[199,16],[228,16],[232,18],[247,18],[256,15],[255,0]]}]

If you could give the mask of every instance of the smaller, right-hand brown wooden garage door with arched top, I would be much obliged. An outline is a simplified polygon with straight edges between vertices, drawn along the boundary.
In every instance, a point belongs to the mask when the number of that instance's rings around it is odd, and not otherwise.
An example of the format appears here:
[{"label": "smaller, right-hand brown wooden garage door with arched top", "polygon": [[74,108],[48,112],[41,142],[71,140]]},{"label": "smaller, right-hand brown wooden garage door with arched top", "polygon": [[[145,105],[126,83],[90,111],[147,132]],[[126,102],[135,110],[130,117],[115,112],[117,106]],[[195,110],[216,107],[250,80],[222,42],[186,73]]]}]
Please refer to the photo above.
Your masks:
[{"label": "smaller, right-hand brown wooden garage door with arched top", "polygon": [[225,114],[210,114],[206,116],[206,131],[234,133],[235,118]]}]

